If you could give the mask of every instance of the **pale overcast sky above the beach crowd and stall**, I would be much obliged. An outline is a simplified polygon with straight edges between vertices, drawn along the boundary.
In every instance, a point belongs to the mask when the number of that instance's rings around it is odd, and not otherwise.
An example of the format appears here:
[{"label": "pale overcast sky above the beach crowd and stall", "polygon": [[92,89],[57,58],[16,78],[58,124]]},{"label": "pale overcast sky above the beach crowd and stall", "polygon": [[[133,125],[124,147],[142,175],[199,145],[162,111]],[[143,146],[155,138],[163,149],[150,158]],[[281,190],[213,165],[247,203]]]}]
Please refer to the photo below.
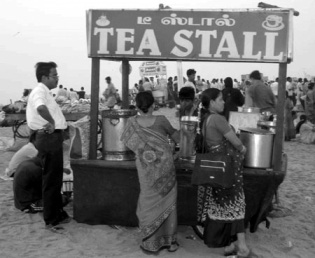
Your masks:
[{"label": "pale overcast sky above the beach crowd and stall", "polygon": [[[269,1],[269,0],[268,0]],[[173,9],[243,9],[257,8],[253,0],[1,0],[0,16],[0,104],[19,100],[25,88],[37,84],[34,65],[39,61],[54,61],[58,65],[59,84],[79,90],[91,89],[91,59],[87,56],[86,10],[88,9],[157,9],[159,4]],[[315,1],[272,0],[268,4],[294,8],[294,59],[288,64],[287,75],[315,75]],[[142,62],[130,62],[132,72],[129,87],[140,79]],[[176,62],[165,62],[167,77],[177,75]],[[104,78],[111,76],[121,90],[121,62],[101,61],[100,93],[105,89]],[[242,74],[259,70],[269,79],[278,77],[278,64],[183,62],[183,71],[194,68],[206,80],[230,76],[238,80]]]}]

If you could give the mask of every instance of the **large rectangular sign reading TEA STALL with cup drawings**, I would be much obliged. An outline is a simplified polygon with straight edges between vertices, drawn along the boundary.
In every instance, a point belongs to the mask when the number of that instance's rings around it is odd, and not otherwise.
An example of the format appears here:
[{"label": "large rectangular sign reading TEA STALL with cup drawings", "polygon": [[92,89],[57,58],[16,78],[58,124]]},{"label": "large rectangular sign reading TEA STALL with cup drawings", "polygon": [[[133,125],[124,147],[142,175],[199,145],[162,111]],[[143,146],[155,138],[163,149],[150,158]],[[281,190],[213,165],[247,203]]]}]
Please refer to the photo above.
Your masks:
[{"label": "large rectangular sign reading TEA STALL with cup drawings", "polygon": [[287,63],[290,9],[88,10],[89,57]]}]

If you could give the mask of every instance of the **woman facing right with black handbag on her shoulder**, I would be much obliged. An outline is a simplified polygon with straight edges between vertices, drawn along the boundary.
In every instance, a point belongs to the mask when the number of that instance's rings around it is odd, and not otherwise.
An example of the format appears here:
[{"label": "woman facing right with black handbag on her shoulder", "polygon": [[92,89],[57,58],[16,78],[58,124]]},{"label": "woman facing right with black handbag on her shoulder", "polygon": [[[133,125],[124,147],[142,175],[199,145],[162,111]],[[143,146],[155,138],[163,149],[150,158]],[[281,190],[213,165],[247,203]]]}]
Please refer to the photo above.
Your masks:
[{"label": "woman facing right with black handbag on her shoulder", "polygon": [[242,169],[246,147],[221,115],[224,101],[220,90],[205,90],[201,102],[209,111],[202,121],[207,149],[210,154],[230,155],[235,174],[235,183],[228,189],[198,186],[197,214],[198,222],[204,226],[204,242],[209,247],[224,247],[226,256],[248,257]]}]

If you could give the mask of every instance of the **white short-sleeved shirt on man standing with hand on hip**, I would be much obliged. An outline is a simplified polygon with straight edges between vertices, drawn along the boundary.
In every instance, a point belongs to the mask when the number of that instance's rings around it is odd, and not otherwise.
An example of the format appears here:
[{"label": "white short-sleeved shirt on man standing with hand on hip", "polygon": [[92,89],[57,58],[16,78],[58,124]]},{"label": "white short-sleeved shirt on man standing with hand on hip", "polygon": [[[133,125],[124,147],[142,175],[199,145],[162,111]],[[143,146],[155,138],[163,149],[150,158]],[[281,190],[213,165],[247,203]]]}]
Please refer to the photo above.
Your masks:
[{"label": "white short-sleeved shirt on man standing with hand on hip", "polygon": [[32,90],[28,98],[26,120],[29,128],[32,130],[40,130],[48,123],[37,111],[37,108],[41,105],[45,105],[48,108],[50,115],[55,121],[55,129],[67,128],[66,119],[59,105],[50,90],[41,82]]}]

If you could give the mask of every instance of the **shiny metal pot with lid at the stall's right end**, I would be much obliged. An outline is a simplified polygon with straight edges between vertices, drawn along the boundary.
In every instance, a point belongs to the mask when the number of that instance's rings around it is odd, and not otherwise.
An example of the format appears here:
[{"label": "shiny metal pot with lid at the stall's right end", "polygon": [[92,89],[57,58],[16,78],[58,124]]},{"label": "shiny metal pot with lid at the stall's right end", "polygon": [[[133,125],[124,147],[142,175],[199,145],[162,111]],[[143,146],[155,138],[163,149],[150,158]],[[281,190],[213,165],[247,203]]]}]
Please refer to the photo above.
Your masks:
[{"label": "shiny metal pot with lid at the stall's right end", "polygon": [[240,140],[247,148],[245,167],[270,168],[272,166],[273,132],[259,128],[241,128]]}]

